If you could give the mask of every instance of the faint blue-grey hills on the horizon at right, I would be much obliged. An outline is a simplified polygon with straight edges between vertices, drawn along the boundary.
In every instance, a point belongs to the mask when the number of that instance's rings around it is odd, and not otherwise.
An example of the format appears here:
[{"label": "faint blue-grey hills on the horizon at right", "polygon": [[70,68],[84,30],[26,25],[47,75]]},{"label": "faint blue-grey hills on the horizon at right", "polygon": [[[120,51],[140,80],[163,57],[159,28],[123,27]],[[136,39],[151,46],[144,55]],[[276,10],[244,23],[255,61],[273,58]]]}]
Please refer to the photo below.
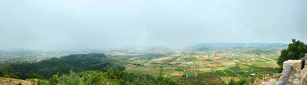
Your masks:
[{"label": "faint blue-grey hills on the horizon at right", "polygon": [[200,43],[195,46],[243,46],[243,47],[256,47],[256,46],[287,46],[284,43]]}]

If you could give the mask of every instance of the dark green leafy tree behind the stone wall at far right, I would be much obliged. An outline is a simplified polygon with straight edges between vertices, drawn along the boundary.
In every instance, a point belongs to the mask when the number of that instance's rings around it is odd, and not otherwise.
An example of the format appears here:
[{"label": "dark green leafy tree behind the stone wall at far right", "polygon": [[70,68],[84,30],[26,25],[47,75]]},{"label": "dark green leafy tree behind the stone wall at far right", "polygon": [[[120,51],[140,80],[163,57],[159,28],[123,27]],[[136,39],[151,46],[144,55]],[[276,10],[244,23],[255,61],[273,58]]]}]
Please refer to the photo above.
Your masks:
[{"label": "dark green leafy tree behind the stone wall at far right", "polygon": [[[287,49],[282,49],[278,58],[277,65],[282,68],[282,63],[287,60],[298,60],[305,56],[307,52],[307,45],[301,41],[292,39],[292,43],[288,45]],[[279,70],[280,72],[280,70]]]}]

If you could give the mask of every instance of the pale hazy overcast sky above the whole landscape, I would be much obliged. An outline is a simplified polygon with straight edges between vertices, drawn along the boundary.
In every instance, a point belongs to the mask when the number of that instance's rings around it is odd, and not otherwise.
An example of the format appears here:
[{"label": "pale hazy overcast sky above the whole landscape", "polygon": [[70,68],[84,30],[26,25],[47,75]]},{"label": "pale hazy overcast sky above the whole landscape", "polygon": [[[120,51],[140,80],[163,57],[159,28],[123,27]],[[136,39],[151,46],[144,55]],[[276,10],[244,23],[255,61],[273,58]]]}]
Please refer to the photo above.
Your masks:
[{"label": "pale hazy overcast sky above the whole landscape", "polygon": [[0,48],[307,42],[306,0],[2,0]]}]

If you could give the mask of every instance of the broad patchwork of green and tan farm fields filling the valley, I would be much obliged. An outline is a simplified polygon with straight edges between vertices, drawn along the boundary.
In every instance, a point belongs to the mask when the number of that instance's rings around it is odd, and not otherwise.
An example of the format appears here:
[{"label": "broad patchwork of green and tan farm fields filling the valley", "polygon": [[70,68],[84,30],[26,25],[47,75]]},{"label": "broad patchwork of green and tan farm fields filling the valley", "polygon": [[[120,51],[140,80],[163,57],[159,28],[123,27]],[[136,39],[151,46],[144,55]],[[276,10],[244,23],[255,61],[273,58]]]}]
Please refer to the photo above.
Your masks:
[{"label": "broad patchwork of green and tan farm fields filling the valley", "polygon": [[[180,51],[155,49],[112,52],[114,55],[110,56],[128,61],[129,64],[124,65],[128,73],[158,76],[162,67],[163,76],[181,84],[218,84],[221,81],[228,82],[230,78],[251,79],[255,77],[251,74],[276,71],[280,55],[278,51],[282,48],[285,47],[195,46]],[[234,56],[229,58],[232,53]]]}]

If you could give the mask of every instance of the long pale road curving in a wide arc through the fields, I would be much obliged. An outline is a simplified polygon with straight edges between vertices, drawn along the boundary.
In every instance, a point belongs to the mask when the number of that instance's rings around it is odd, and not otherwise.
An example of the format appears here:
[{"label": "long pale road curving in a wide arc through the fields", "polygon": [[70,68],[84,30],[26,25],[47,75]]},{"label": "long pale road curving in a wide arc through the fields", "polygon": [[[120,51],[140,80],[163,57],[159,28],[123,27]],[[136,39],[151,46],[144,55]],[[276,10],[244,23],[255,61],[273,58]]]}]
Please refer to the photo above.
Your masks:
[{"label": "long pale road curving in a wide arc through the fields", "polygon": [[[226,50],[223,50],[223,51],[226,51]],[[230,51],[226,51],[226,52],[229,52],[229,53],[231,53],[232,55],[231,55],[229,58],[227,58],[227,59],[220,60],[220,61],[215,61],[215,62],[209,62],[209,63],[193,64],[193,65],[152,65],[152,64],[141,64],[141,65],[147,65],[147,66],[196,66],[196,65],[211,64],[211,63],[217,63],[217,62],[226,61],[226,60],[231,59],[231,58],[233,57],[234,54],[233,54],[232,52],[230,52]],[[112,58],[111,56],[108,56],[106,53],[108,53],[108,52],[105,52],[104,55],[106,55],[108,58],[114,59],[114,60],[119,60],[119,59],[116,59],[116,58]],[[140,64],[140,63],[134,63],[134,62],[123,61],[123,60],[119,60],[119,61],[124,62],[124,63]]]}]

